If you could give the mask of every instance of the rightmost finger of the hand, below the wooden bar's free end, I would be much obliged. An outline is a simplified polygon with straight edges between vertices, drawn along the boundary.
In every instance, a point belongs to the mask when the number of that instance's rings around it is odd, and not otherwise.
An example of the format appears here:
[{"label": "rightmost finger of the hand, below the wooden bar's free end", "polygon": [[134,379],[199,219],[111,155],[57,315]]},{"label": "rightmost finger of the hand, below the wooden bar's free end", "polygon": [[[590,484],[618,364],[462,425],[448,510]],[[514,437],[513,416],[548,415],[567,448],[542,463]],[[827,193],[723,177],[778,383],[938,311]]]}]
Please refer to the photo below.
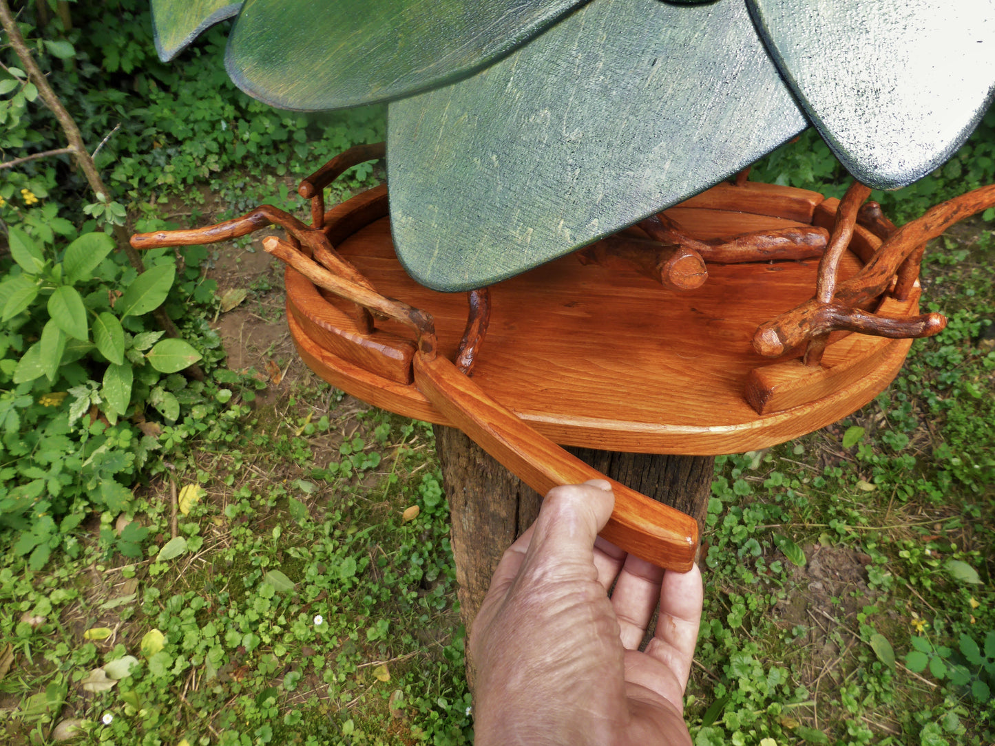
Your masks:
[{"label": "rightmost finger of the hand, below the wooden bar's free end", "polygon": [[674,672],[682,691],[688,685],[695,656],[701,603],[701,571],[697,565],[686,573],[664,575],[657,632],[646,653]]}]

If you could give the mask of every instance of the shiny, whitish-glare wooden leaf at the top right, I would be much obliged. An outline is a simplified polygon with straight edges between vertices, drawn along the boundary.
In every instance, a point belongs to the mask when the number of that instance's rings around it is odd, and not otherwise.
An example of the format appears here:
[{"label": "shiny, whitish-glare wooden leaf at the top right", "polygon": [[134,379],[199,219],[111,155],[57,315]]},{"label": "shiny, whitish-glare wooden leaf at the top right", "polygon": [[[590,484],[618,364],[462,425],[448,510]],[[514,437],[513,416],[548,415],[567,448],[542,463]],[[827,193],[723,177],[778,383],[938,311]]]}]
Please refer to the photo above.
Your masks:
[{"label": "shiny, whitish-glare wooden leaf at the top right", "polygon": [[993,0],[747,0],[823,138],[860,181],[905,186],[950,158],[995,85]]}]

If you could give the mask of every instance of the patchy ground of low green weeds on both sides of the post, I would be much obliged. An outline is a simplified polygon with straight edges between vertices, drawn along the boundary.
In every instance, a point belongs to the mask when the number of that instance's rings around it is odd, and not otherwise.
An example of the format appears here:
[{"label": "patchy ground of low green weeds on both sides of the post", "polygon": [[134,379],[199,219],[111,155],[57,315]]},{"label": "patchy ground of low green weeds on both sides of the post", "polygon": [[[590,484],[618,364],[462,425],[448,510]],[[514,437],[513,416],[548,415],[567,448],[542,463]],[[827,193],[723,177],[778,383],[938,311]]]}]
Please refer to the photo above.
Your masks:
[{"label": "patchy ground of low green weeds on both sides of the post", "polygon": [[[995,738],[992,244],[975,224],[930,253],[950,324],[874,403],[718,460],[697,746]],[[233,376],[209,428],[163,435],[128,514],[42,571],[7,552],[6,742],[471,741],[431,429],[307,374],[265,405],[264,385]],[[116,551],[132,519],[138,559]]]}]

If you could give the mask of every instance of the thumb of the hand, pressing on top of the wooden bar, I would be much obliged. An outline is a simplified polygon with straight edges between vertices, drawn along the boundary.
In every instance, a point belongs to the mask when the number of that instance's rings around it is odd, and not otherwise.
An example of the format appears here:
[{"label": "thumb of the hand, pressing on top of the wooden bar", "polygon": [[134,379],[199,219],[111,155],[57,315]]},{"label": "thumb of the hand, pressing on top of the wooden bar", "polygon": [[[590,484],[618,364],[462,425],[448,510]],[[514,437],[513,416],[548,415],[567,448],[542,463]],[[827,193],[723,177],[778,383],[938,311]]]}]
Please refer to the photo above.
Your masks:
[{"label": "thumb of the hand, pressing on top of the wooden bar", "polygon": [[614,507],[615,494],[605,479],[553,487],[535,519],[524,564],[534,556],[593,566],[594,540]]}]

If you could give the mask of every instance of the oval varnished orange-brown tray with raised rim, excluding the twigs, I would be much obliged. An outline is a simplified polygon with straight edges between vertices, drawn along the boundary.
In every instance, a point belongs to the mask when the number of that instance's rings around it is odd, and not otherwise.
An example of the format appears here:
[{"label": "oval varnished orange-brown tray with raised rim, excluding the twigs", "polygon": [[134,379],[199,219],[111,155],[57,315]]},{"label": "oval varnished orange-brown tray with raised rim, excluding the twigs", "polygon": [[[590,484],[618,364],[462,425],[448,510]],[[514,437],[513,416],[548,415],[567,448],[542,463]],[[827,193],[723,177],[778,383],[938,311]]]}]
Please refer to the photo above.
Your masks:
[{"label": "oval varnished orange-brown tray with raised rim, excluding the twigs", "polygon": [[[747,183],[715,187],[667,214],[710,239],[792,225],[832,229],[837,204],[815,192]],[[378,187],[328,212],[325,231],[380,293],[433,314],[439,351],[452,359],[467,297],[411,280],[394,254],[386,216],[386,189]],[[473,237],[467,243],[472,247]],[[840,279],[855,274],[859,257],[866,260],[880,243],[858,226]],[[810,298],[817,268],[818,260],[709,265],[701,287],[679,292],[635,271],[564,257],[491,287],[491,322],[473,378],[561,445],[704,456],[781,443],[870,402],[911,344],[834,334],[817,369],[790,356],[758,355],[756,327]],[[291,332],[312,370],[375,406],[453,424],[407,382],[414,353],[407,330],[378,321],[373,335],[358,335],[297,271],[287,269],[286,283]],[[917,299],[917,290],[905,302],[886,298],[881,310],[914,314]]]}]

